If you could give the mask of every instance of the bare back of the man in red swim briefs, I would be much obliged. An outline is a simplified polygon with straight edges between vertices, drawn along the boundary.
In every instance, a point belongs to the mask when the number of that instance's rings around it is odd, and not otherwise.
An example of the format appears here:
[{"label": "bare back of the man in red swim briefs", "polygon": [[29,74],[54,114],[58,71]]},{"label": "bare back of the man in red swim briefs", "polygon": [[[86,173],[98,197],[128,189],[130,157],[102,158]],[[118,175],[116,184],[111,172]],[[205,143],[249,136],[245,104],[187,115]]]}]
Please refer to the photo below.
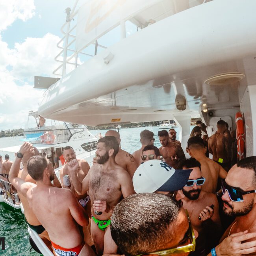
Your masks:
[{"label": "bare back of the man in red swim briefs", "polygon": [[69,189],[37,186],[28,190],[27,198],[31,208],[36,209],[37,219],[48,231],[52,242],[64,248],[74,248],[82,242],[73,218],[75,216],[72,216],[73,209],[82,206]]}]

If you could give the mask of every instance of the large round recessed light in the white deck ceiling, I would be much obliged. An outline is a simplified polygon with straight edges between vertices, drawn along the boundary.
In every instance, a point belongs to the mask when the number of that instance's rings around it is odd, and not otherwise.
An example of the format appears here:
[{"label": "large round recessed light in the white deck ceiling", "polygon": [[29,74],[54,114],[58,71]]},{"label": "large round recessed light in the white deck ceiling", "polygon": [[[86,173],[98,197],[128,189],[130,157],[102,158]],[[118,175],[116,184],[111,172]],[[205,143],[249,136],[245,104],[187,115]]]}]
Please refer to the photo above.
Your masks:
[{"label": "large round recessed light in the white deck ceiling", "polygon": [[204,81],[208,85],[230,85],[241,81],[245,77],[242,73],[227,73],[212,76]]}]

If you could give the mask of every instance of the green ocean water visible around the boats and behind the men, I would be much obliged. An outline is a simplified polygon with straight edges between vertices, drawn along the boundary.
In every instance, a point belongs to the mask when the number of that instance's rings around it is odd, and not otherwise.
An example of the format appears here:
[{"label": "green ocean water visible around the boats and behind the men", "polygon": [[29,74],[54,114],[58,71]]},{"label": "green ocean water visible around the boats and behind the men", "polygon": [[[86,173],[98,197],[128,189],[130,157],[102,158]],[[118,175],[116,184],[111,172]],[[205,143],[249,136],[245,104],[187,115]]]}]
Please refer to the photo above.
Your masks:
[{"label": "green ocean water visible around the boats and behind the men", "polygon": [[[191,126],[191,130],[194,126]],[[139,134],[143,130],[150,130],[154,132],[156,147],[160,147],[158,139],[158,126],[154,127],[137,127],[137,128],[123,128],[120,129],[121,136],[121,148],[129,153],[133,153],[135,150],[141,147]],[[168,129],[169,130],[169,129]],[[179,136],[179,128],[175,128],[177,132],[177,139]],[[93,135],[97,135],[101,132],[102,136],[105,135],[107,130],[91,130]],[[0,148],[11,147],[15,145],[21,145],[20,141],[22,137],[4,137],[0,138]],[[0,152],[0,155],[4,157],[5,154],[9,154],[10,160],[15,158],[14,153]],[[26,255],[39,255],[32,250],[29,251],[31,246],[29,243],[28,228],[24,221],[24,215],[19,212],[14,212],[6,208],[6,204],[0,204],[0,237],[5,237],[5,250],[0,250],[0,255],[6,256],[26,256]],[[1,249],[1,247],[0,247]]]}]

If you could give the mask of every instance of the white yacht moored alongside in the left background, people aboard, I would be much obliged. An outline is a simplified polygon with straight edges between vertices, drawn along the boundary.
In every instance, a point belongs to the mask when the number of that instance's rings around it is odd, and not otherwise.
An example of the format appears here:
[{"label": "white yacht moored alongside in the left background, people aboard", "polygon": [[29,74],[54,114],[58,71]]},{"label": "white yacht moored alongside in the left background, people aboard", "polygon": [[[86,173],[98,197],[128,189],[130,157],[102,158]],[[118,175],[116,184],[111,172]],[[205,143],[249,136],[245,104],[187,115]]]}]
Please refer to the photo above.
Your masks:
[{"label": "white yacht moored alongside in the left background, people aboard", "polygon": [[[92,165],[98,139],[89,132],[87,126],[81,124],[46,119],[44,126],[40,127],[38,112],[30,111],[24,129],[24,138],[21,141],[32,143],[53,164],[54,158],[56,158],[58,168],[55,169],[55,172],[59,177],[61,166],[65,163],[62,156],[64,147],[71,146],[74,148],[77,158],[85,159]],[[0,151],[16,153],[19,151],[20,145],[0,148]],[[8,204],[14,209],[21,208],[22,210],[16,190],[3,179],[0,179],[0,202]]]}]

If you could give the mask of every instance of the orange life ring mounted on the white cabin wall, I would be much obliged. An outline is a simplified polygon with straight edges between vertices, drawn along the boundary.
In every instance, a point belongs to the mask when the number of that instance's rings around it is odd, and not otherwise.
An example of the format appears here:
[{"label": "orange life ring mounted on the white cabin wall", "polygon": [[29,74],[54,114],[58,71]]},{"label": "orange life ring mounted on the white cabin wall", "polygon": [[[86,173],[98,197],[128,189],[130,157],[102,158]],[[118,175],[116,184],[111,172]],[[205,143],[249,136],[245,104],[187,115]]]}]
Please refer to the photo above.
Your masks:
[{"label": "orange life ring mounted on the white cabin wall", "polygon": [[245,158],[245,127],[243,125],[243,115],[236,113],[236,140],[237,140],[237,159]]}]

